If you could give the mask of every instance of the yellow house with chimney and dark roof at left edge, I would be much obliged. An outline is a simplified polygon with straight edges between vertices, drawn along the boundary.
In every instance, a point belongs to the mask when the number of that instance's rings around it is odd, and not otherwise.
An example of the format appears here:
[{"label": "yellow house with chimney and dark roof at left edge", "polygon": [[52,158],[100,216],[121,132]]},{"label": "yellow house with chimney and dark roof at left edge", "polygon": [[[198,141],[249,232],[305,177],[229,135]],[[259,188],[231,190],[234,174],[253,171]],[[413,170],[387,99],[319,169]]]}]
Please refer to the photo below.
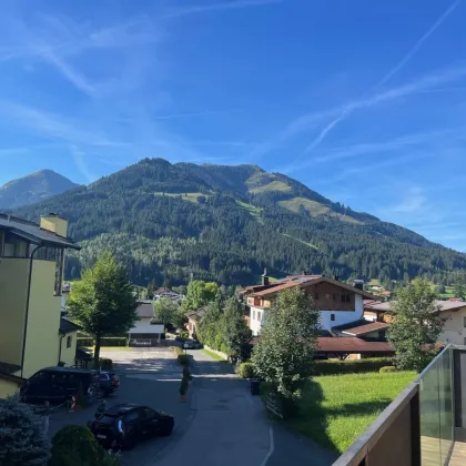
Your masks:
[{"label": "yellow house with chimney and dark roof at left edge", "polygon": [[68,249],[80,247],[60,215],[0,213],[0,397],[43,367],[74,365],[79,327],[61,312]]}]

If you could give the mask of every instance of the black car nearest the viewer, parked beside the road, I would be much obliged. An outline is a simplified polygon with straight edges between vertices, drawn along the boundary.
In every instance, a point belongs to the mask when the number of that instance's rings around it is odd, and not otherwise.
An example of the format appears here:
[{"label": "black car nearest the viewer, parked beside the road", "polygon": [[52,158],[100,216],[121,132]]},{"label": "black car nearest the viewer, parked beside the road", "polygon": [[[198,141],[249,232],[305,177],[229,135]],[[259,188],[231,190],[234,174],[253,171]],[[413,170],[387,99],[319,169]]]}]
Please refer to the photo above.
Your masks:
[{"label": "black car nearest the viewer, parked beside the road", "polygon": [[107,409],[88,423],[97,440],[105,448],[132,448],[141,438],[170,435],[174,418],[148,406],[124,403]]}]

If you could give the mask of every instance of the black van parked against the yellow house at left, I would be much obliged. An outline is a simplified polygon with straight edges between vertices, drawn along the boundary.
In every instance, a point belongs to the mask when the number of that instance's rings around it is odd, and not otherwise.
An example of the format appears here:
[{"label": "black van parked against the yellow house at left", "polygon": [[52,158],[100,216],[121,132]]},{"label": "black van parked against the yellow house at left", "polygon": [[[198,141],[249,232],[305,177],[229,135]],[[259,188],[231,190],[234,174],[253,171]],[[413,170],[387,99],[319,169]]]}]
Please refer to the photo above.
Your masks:
[{"label": "black van parked against the yellow house at left", "polygon": [[77,399],[82,395],[88,403],[97,398],[100,389],[99,373],[93,369],[75,367],[45,367],[30,378],[20,388],[24,403],[60,404]]}]

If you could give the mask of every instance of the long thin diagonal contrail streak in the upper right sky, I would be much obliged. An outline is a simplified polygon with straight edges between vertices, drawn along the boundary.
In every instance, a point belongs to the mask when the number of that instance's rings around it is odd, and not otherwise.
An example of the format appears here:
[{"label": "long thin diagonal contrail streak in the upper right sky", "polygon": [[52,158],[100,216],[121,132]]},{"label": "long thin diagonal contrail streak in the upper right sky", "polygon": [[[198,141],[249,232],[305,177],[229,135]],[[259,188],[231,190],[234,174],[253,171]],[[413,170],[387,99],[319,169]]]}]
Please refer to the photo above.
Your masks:
[{"label": "long thin diagonal contrail streak in the upper right sky", "polygon": [[[425,32],[421,39],[414,44],[414,47],[403,57],[403,59],[392,68],[381,81],[375,84],[375,87],[369,90],[369,92],[377,91],[381,89],[386,82],[388,82],[398,71],[405,67],[405,64],[416,54],[416,52],[421,49],[422,44],[435,32],[437,28],[442,26],[442,23],[453,13],[453,11],[458,7],[459,0],[455,1],[435,22],[434,24]],[[325,136],[342,121],[346,120],[358,107],[346,107],[343,111],[332,120],[320,133],[318,135],[306,146],[304,153],[313,152],[325,139]],[[296,161],[298,161],[297,159]]]}]

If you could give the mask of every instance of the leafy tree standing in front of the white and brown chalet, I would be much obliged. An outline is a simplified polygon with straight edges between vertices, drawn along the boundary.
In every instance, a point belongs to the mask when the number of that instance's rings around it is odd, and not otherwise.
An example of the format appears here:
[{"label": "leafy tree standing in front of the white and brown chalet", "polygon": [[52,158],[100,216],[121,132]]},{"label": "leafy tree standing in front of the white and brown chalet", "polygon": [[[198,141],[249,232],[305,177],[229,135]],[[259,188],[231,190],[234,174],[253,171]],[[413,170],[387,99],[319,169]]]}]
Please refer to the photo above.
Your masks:
[{"label": "leafy tree standing in front of the white and brown chalet", "polygon": [[278,293],[254,347],[254,372],[285,398],[297,398],[312,373],[318,311],[297,287]]}]

